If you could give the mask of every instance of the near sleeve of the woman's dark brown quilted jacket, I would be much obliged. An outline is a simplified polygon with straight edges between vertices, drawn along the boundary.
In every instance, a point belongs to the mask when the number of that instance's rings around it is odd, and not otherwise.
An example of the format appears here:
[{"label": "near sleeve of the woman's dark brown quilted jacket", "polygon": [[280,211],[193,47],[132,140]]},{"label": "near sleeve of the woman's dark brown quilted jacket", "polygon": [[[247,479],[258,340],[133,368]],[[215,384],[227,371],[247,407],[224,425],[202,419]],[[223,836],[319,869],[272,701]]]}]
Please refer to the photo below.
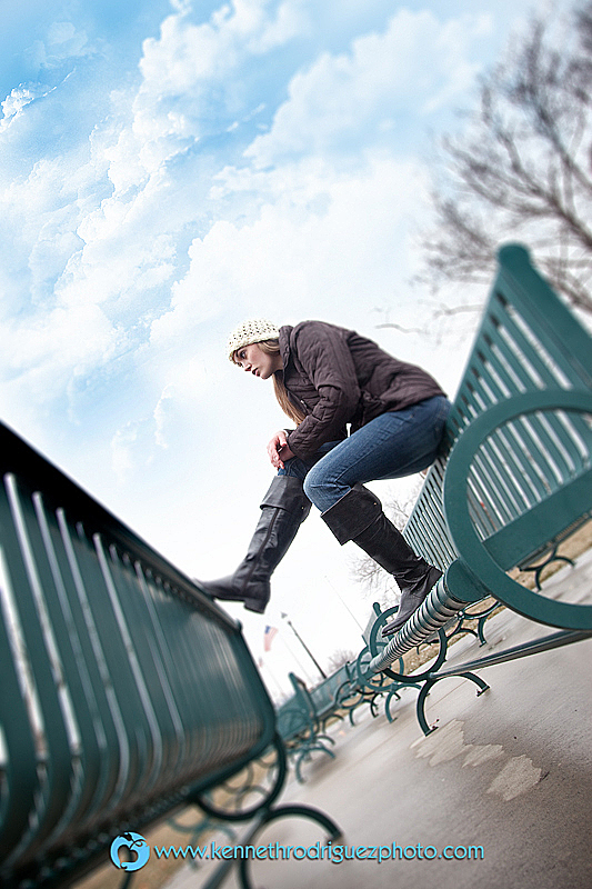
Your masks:
[{"label": "near sleeve of the woman's dark brown quilted jacket", "polygon": [[288,437],[297,457],[310,457],[327,441],[342,438],[358,408],[360,388],[345,332],[317,321],[294,328],[292,348],[319,394],[312,413]]}]

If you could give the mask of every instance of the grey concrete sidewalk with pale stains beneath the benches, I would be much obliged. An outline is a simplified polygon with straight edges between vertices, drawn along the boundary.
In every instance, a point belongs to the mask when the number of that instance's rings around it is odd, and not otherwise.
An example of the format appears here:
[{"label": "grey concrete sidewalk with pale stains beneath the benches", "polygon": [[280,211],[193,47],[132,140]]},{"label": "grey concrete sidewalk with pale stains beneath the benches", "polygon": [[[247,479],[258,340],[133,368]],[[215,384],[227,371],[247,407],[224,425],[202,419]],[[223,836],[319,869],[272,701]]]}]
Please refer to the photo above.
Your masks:
[{"label": "grey concrete sidewalk with pale stains beneath the benches", "polygon": [[[575,570],[562,570],[550,585],[570,601],[592,600],[592,551]],[[505,610],[488,622],[486,647],[461,640],[452,649],[454,660],[465,660],[468,651],[481,656],[548,632],[552,630]],[[479,698],[475,686],[459,678],[434,687],[427,717],[438,730],[428,737],[415,718],[413,689],[393,703],[392,725],[382,707],[375,719],[368,708],[360,709],[353,728],[334,723],[335,759],[315,755],[303,767],[307,783],[292,778],[282,795],[280,805],[314,806],[338,821],[348,853],[352,847],[392,849],[397,843],[400,860],[255,861],[253,885],[258,889],[592,887],[592,639],[488,667],[480,675],[491,688]],[[257,845],[309,848],[317,841],[325,843],[315,825],[285,819],[263,831]],[[418,843],[435,858],[428,860],[420,852],[419,860]],[[466,858],[444,860],[445,847],[452,847],[448,855],[456,849],[458,857]],[[483,857],[469,860],[475,855],[469,847],[482,847]],[[165,889],[199,889],[209,867],[184,866]],[[235,889],[235,877],[225,886]]]}]

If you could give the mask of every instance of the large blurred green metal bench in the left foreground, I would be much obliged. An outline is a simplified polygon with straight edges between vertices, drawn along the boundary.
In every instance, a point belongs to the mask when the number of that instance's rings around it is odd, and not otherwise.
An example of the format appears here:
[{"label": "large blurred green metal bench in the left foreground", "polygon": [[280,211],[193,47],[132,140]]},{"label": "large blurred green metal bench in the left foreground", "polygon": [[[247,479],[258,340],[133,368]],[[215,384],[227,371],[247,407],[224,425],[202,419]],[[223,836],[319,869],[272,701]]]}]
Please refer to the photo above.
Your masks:
[{"label": "large blurred green metal bench in the left foreground", "polygon": [[[0,453],[0,885],[61,889],[188,803],[338,836],[273,805],[285,753],[240,625],[1,426]],[[270,750],[259,796],[220,790]]]}]

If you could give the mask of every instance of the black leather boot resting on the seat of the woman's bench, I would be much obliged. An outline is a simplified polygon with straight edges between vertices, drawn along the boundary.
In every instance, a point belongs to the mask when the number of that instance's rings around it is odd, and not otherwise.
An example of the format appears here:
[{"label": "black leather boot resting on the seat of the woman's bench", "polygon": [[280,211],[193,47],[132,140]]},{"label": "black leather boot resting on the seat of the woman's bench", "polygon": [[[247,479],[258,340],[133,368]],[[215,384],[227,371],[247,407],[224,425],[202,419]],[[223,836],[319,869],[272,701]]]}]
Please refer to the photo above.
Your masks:
[{"label": "black leather boot resting on the seat of the woman's bench", "polygon": [[397,580],[401,600],[397,618],[382,630],[391,636],[418,610],[442,572],[415,556],[403,535],[384,512],[372,491],[355,485],[341,500],[321,513],[341,545],[353,540]]}]

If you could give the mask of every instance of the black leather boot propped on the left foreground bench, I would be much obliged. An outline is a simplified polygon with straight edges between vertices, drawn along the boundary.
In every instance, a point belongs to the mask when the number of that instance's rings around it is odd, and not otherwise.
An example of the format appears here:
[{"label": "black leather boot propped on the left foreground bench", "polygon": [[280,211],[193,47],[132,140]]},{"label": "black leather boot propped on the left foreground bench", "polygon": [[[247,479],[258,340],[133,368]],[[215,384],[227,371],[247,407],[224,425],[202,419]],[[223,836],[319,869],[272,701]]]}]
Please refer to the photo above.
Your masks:
[{"label": "black leather boot propped on the left foreground bench", "polygon": [[212,597],[244,602],[249,611],[262,615],[270,596],[270,577],[285,556],[311,502],[300,479],[275,476],[261,502],[261,518],[247,556],[233,575],[220,580],[198,581]]}]

